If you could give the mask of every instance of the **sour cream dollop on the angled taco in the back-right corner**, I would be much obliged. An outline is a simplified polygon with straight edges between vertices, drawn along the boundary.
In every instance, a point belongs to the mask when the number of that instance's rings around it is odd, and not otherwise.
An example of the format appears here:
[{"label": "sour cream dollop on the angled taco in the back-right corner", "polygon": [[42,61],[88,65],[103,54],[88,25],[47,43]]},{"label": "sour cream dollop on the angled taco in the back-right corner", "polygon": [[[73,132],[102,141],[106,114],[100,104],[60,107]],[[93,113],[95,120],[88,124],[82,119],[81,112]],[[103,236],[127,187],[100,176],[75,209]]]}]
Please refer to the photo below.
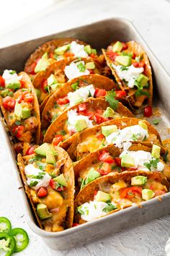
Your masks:
[{"label": "sour cream dollop on the angled taco in the back-right corner", "polygon": [[112,67],[116,70],[118,77],[121,80],[125,80],[128,82],[129,88],[134,88],[135,80],[139,77],[141,73],[143,73],[143,67],[134,67],[133,65],[126,67],[126,69],[122,70],[122,66],[112,64]]}]

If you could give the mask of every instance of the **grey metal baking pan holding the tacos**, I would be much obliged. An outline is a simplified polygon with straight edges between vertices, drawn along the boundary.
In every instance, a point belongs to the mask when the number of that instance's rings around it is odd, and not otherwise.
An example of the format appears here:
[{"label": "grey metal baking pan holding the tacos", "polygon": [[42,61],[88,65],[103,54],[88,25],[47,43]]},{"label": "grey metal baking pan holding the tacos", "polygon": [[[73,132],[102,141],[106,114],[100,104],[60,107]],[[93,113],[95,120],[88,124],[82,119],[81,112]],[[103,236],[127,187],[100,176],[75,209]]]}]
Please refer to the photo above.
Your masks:
[{"label": "grey metal baking pan holding the tacos", "polygon": [[[120,18],[102,20],[83,27],[77,27],[72,30],[48,35],[46,37],[19,43],[14,46],[1,48],[0,72],[2,73],[4,69],[15,69],[17,71],[21,71],[24,67],[25,61],[30,54],[32,54],[32,51],[34,51],[35,48],[40,46],[42,43],[45,43],[45,41],[62,37],[79,38],[80,40],[90,43],[91,46],[98,50],[100,48],[106,48],[109,43],[114,40],[136,40],[140,43],[143,48],[145,48],[151,61],[153,69],[154,104],[161,109],[162,114],[161,125],[158,124],[156,128],[159,128],[159,132],[161,132],[162,137],[167,137],[166,129],[167,127],[170,127],[168,119],[168,113],[170,111],[170,90],[168,88],[170,84],[170,77],[153,55],[150,48],[148,48],[138,31],[128,20]],[[0,132],[2,132],[6,137],[6,145],[8,145],[7,148],[10,153],[9,160],[12,162],[12,168],[14,168],[17,175],[18,183],[16,182],[16,186],[22,187],[22,181],[20,179],[19,172],[17,171],[14,153],[12,152],[12,145],[9,137],[6,135],[3,122],[0,123]],[[96,239],[101,239],[108,234],[115,234],[118,231],[122,231],[122,229],[132,226],[132,223],[133,226],[134,223],[135,225],[138,225],[139,223],[144,223],[145,221],[149,221],[153,218],[164,216],[170,211],[169,192],[163,195],[161,200],[153,198],[148,202],[143,202],[142,208],[133,206],[109,216],[104,216],[99,220],[91,221],[81,226],[76,226],[73,229],[67,229],[58,233],[50,233],[37,226],[23,187],[20,189],[20,192],[22,195],[22,202],[24,203],[24,208],[26,210],[25,216],[27,216],[27,222],[32,231],[41,236],[45,244],[49,247],[59,250],[71,249],[73,247],[78,247],[88,242],[92,242]]]}]

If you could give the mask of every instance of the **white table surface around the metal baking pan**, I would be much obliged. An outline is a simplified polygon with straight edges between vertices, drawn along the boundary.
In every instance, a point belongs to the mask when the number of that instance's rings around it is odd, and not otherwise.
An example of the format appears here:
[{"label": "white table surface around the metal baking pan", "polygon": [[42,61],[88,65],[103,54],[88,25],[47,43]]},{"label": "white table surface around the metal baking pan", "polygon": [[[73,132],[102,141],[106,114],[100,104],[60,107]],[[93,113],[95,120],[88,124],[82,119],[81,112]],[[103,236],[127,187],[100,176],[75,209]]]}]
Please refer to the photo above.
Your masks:
[{"label": "white table surface around the metal baking pan", "polygon": [[[59,4],[55,3],[53,7],[48,7],[46,11],[40,11],[29,19],[18,22],[17,25],[6,28],[5,31],[1,29],[0,47],[50,35],[107,17],[124,17],[133,22],[170,74],[169,13],[170,1],[168,0],[65,0]],[[110,235],[101,241],[68,252],[48,249],[40,237],[33,234],[27,226],[16,176],[9,162],[6,144],[1,133],[0,163],[0,216],[9,218],[12,226],[26,229],[30,236],[29,246],[19,255],[165,255],[164,247],[170,236],[170,216],[158,218],[143,226],[135,227],[135,223],[132,223],[132,229],[128,231]]]}]

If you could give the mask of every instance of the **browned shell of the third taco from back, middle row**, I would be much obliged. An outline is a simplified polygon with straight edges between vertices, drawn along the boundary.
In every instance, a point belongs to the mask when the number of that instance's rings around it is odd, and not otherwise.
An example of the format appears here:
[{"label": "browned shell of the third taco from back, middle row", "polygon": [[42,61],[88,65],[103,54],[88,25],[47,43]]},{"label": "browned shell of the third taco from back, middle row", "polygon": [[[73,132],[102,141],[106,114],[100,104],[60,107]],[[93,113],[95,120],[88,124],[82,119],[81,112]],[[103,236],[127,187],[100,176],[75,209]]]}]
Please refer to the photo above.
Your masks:
[{"label": "browned shell of the third taco from back, middle row", "polygon": [[[48,98],[48,102],[45,104],[45,107],[42,111],[42,129],[45,129],[50,125],[49,111],[54,108],[59,98],[63,98],[68,95],[68,93],[75,91],[73,90],[73,88],[71,88],[71,85],[76,82],[79,82],[79,88],[83,88],[87,85],[94,85],[94,88],[104,89],[108,91],[117,87],[115,82],[110,80],[108,77],[104,77],[99,74],[89,74],[69,80],[61,88],[55,90],[54,93],[50,95],[50,98]],[[68,106],[67,108],[64,108],[64,110],[62,110],[63,105],[58,105],[58,109],[61,109],[60,114],[62,114],[62,112],[68,108],[70,107]]]}]

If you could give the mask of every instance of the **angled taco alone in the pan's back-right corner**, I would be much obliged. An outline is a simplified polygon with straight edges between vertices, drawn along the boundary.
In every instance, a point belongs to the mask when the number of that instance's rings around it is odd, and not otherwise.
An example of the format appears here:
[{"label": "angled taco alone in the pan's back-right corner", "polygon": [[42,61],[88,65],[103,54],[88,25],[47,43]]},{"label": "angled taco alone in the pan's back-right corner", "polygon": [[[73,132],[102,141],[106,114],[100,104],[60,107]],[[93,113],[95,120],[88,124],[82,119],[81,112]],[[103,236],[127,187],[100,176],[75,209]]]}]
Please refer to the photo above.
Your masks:
[{"label": "angled taco alone in the pan's back-right corner", "polygon": [[152,104],[153,82],[151,65],[143,48],[135,41],[111,43],[102,49],[124,98],[133,110]]}]

